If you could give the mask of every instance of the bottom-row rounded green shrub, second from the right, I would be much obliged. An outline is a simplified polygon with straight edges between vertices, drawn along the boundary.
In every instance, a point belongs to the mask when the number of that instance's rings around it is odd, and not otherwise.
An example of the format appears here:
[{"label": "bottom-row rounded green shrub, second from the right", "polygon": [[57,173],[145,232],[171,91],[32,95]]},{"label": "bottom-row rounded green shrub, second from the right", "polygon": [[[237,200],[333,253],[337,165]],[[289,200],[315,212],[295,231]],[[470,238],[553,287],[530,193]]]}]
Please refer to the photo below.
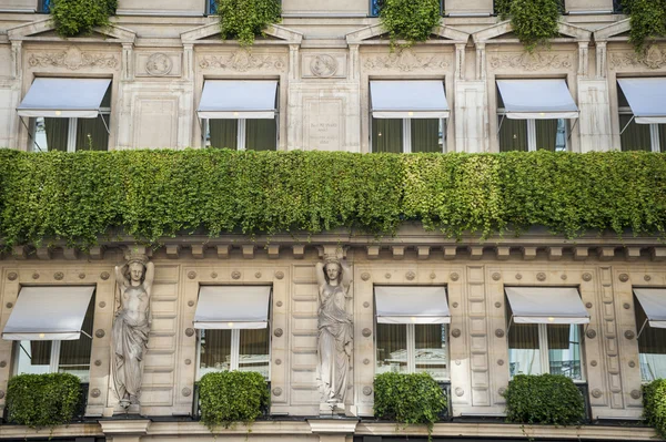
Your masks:
[{"label": "bottom-row rounded green shrub, second from the right", "polygon": [[585,419],[583,395],[562,374],[518,374],[508,382],[504,398],[509,422],[573,425]]}]

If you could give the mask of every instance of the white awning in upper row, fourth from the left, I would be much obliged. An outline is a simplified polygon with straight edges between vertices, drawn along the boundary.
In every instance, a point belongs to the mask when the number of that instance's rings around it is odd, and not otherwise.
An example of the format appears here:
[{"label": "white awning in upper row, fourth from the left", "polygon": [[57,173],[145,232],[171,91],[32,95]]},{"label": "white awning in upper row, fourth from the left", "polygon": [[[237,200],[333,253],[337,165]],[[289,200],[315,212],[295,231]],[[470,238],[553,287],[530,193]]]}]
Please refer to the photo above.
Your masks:
[{"label": "white awning in upper row, fourth from the left", "polygon": [[497,80],[497,88],[509,120],[578,117],[564,80]]}]

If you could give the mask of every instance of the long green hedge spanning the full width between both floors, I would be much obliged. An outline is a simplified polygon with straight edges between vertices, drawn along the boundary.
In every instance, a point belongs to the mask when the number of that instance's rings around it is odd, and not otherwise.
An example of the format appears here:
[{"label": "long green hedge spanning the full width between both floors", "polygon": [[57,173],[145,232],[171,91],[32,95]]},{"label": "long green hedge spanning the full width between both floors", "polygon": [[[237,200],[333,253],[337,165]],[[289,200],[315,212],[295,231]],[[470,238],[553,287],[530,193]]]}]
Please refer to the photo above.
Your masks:
[{"label": "long green hedge spanning the full width between both floors", "polygon": [[666,232],[666,155],[0,151],[0,241],[82,248],[193,233],[450,237],[545,226],[567,238]]}]

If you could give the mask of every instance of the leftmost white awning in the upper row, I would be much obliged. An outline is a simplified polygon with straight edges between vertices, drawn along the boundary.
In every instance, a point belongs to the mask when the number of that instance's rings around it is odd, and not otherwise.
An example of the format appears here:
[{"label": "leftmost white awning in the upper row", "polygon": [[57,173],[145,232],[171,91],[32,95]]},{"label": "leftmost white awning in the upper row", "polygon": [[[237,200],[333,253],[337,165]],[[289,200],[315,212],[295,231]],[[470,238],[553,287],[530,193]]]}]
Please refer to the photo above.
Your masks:
[{"label": "leftmost white awning in the upper row", "polygon": [[36,79],[17,109],[19,116],[97,119],[111,80]]}]

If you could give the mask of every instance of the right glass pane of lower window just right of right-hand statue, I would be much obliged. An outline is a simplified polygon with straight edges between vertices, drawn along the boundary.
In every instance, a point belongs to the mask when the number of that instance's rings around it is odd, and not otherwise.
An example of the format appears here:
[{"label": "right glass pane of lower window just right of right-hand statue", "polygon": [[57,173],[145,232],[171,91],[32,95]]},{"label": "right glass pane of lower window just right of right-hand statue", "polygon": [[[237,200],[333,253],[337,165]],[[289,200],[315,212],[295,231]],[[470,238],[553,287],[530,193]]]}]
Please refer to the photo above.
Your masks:
[{"label": "right glass pane of lower window just right of right-hand statue", "polygon": [[435,380],[448,379],[446,325],[414,325],[416,372],[428,372]]}]

